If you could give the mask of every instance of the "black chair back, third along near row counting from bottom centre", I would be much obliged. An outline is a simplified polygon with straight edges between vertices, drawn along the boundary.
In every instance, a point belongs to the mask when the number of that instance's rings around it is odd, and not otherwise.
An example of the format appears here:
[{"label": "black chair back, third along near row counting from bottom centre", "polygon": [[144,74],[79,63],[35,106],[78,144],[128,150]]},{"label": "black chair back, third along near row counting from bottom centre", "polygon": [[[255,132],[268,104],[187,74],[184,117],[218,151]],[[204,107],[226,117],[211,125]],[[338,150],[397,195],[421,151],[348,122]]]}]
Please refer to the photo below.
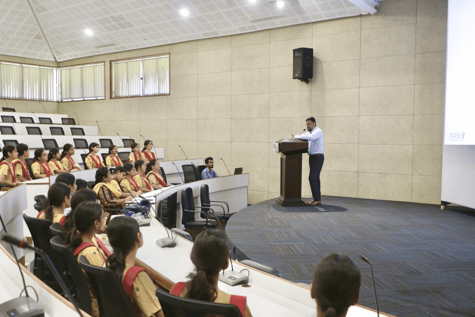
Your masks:
[{"label": "black chair back, third along near row counting from bottom centre", "polygon": [[63,244],[63,241],[64,239],[59,236],[55,236],[51,238],[51,240],[49,240],[51,248],[61,253],[66,259],[68,273],[69,276],[71,276],[75,286],[74,294],[78,297],[76,298],[77,304],[87,314],[91,315],[91,295],[89,293],[89,284],[87,283],[86,276],[84,275],[83,270],[79,266],[79,263],[77,262],[77,259],[74,256],[73,252],[71,252],[71,250],[69,250],[69,248]]}]

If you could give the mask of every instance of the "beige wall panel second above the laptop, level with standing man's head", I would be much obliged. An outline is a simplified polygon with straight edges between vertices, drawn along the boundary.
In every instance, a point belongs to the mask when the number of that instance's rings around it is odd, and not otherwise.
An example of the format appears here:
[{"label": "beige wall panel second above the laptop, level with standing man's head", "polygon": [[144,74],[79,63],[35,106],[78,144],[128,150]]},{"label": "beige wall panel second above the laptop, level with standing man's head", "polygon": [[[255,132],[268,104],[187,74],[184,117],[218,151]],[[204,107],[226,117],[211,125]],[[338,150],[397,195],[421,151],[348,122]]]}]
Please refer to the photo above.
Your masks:
[{"label": "beige wall panel second above the laptop, level with standing man's head", "polygon": [[232,142],[269,142],[269,119],[232,119]]}]

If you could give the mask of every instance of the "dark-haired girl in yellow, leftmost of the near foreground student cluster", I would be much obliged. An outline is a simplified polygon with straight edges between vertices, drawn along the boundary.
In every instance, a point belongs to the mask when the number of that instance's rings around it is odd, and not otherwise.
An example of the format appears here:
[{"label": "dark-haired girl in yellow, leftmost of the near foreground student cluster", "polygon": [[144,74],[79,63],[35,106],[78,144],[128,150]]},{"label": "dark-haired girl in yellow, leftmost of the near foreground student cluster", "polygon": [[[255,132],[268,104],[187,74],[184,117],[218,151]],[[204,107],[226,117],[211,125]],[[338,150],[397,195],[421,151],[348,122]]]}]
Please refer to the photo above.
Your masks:
[{"label": "dark-haired girl in yellow, leftmost of the near foreground student cluster", "polygon": [[48,197],[43,202],[44,211],[40,211],[36,218],[48,219],[63,225],[65,220],[64,210],[70,207],[71,189],[65,183],[54,183],[48,189]]}]

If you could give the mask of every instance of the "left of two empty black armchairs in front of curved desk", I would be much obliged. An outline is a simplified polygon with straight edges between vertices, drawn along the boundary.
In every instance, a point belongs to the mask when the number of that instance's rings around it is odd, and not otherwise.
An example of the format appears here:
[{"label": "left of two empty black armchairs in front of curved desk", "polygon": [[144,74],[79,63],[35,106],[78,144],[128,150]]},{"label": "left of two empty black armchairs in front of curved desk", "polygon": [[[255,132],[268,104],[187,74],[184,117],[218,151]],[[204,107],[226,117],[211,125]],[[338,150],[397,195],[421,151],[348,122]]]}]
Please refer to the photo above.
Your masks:
[{"label": "left of two empty black armchairs in front of curved desk", "polygon": [[[195,208],[214,211],[209,207],[195,206],[193,200],[193,190],[190,187],[183,188],[181,190],[181,224],[185,226],[186,229],[209,229],[215,228],[218,222],[213,220],[211,217],[204,211],[197,211]],[[199,212],[202,218],[195,219],[195,212]]]}]

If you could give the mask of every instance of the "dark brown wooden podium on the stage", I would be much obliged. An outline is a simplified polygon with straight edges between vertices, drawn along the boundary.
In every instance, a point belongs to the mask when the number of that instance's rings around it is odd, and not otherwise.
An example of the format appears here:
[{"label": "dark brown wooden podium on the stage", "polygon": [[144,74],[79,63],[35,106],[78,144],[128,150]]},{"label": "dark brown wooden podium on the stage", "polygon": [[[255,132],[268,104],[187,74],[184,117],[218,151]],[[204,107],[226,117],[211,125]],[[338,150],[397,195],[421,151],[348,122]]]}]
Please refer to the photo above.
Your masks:
[{"label": "dark brown wooden podium on the stage", "polygon": [[274,143],[280,153],[280,196],[276,202],[281,207],[308,206],[302,200],[302,153],[308,151],[308,141],[282,139]]}]

